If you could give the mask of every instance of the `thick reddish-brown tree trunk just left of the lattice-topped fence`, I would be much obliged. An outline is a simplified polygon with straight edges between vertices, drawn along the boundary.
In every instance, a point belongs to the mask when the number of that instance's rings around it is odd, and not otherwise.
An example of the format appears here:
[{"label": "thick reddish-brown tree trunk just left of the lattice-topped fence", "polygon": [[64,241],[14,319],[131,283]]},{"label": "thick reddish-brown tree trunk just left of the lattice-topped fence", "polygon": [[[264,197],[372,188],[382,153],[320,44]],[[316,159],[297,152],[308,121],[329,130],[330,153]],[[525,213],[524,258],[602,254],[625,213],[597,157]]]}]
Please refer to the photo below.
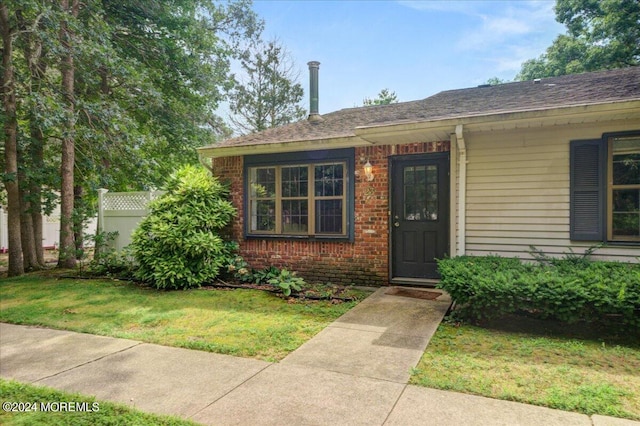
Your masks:
[{"label": "thick reddish-brown tree trunk just left of the lattice-topped fence", "polygon": [[[71,17],[78,14],[78,0],[72,0],[71,9],[69,0],[61,0],[62,9]],[[62,93],[67,104],[67,118],[62,136],[62,161],[60,166],[60,253],[58,257],[59,268],[74,268],[76,266],[75,243],[73,240],[73,182],[75,164],[75,106],[74,106],[74,63],[72,52],[72,33],[68,22],[61,23],[60,41],[63,55],[60,61],[60,74],[62,76]]]}]

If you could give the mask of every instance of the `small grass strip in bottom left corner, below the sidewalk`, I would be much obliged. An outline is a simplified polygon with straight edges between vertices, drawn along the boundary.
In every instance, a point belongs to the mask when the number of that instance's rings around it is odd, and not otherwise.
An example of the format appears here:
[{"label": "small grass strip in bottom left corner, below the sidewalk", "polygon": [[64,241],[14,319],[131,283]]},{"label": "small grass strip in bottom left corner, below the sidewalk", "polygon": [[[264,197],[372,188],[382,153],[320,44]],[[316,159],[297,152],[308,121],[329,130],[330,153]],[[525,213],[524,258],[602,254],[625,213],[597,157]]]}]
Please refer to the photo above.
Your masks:
[{"label": "small grass strip in bottom left corner, below the sidewalk", "polygon": [[[193,426],[197,423],[176,417],[147,414],[133,408],[76,393],[61,392],[0,379],[0,424],[8,425],[162,425]],[[22,402],[18,406],[12,403]],[[60,403],[69,403],[71,411]],[[5,406],[9,403],[8,406]],[[24,403],[27,403],[25,405]],[[16,411],[12,411],[16,409]],[[28,410],[28,411],[27,411]]]}]

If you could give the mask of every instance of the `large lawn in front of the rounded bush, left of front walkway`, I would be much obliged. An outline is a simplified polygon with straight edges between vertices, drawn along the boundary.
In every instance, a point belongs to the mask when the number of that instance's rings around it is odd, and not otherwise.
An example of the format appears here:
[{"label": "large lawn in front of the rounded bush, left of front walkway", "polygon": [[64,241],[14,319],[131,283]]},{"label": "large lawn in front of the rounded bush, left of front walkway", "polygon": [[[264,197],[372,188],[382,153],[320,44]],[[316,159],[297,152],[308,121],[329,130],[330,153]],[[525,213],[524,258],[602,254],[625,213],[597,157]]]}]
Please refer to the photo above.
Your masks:
[{"label": "large lawn in front of the rounded bush, left of front walkway", "polygon": [[289,303],[258,290],[157,291],[124,281],[0,280],[0,321],[278,361],[356,302]]}]

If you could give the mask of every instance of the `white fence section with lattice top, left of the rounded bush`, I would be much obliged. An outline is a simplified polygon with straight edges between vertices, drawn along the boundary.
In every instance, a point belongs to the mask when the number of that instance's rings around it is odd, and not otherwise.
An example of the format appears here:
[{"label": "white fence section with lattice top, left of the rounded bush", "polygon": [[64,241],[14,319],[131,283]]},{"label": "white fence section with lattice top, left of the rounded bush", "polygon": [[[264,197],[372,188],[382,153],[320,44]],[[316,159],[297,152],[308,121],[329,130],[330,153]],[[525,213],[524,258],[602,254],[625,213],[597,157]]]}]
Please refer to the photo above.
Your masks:
[{"label": "white fence section with lattice top, left of the rounded bush", "polygon": [[131,243],[131,234],[149,210],[149,201],[158,198],[164,191],[108,192],[98,190],[98,229],[105,233],[116,233],[109,247],[117,252]]}]

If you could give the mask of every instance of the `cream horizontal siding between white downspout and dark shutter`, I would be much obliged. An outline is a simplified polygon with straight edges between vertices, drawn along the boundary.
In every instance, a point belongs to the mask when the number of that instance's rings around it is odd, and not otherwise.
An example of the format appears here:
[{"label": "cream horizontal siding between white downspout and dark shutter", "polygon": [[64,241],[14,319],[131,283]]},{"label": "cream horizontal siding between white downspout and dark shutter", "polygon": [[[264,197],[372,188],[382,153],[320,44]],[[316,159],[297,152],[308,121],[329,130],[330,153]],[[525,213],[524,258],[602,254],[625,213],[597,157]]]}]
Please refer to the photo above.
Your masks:
[{"label": "cream horizontal siding between white downspout and dark shutter", "polygon": [[[632,129],[622,123],[466,133],[467,254],[530,258],[530,245],[562,255],[570,248],[583,253],[595,244],[570,240],[569,141]],[[594,259],[634,261],[637,256],[640,246],[610,244]]]}]

